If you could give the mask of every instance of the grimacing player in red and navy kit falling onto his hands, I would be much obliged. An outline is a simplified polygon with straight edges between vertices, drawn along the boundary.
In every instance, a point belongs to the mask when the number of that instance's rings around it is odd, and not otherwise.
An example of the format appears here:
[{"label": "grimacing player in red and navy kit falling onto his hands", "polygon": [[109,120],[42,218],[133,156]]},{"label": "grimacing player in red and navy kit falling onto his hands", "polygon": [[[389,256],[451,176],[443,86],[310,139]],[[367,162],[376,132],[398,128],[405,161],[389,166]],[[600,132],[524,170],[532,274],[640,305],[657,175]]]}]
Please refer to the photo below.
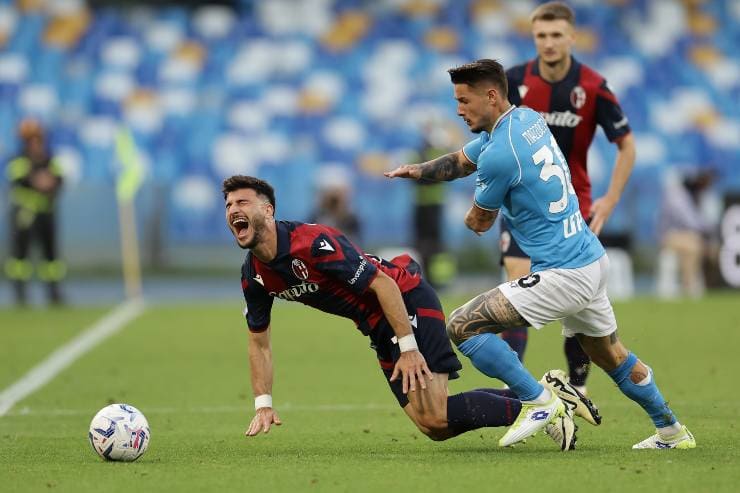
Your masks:
[{"label": "grimacing player in red and navy kit falling onto his hands", "polygon": [[[280,418],[272,405],[270,313],[273,300],[298,301],[351,319],[368,336],[391,390],[406,414],[433,440],[485,426],[507,426],[521,403],[479,389],[449,396],[448,378],[461,369],[445,331],[445,316],[418,265],[407,255],[391,262],[367,255],[336,229],[276,221],[275,193],[265,181],[224,181],[226,221],[248,250],[242,266],[255,416],[247,436]],[[575,444],[569,416],[549,424],[561,450]]]}]

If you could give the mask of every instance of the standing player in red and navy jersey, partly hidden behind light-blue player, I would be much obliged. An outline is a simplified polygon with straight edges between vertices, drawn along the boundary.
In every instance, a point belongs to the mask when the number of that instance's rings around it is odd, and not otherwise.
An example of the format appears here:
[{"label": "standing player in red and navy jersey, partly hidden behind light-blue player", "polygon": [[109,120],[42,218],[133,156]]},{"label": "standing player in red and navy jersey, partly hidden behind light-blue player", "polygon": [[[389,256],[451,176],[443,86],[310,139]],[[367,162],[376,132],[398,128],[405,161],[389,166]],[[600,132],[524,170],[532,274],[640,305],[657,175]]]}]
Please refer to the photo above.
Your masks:
[{"label": "standing player in red and navy jersey, partly hidden behind light-blue player", "polygon": [[[576,41],[573,10],[562,2],[548,2],[535,9],[531,22],[537,58],[506,71],[509,102],[542,114],[568,161],[581,214],[598,235],[619,202],[632,172],[634,138],[627,117],[606,80],[571,54]],[[597,125],[617,146],[617,156],[606,194],[592,202],[586,156]],[[527,277],[531,261],[511,236],[504,218],[500,248],[508,280]],[[528,328],[510,329],[501,336],[523,360]],[[565,338],[564,349],[570,381],[586,393],[589,357],[575,337]]]}]

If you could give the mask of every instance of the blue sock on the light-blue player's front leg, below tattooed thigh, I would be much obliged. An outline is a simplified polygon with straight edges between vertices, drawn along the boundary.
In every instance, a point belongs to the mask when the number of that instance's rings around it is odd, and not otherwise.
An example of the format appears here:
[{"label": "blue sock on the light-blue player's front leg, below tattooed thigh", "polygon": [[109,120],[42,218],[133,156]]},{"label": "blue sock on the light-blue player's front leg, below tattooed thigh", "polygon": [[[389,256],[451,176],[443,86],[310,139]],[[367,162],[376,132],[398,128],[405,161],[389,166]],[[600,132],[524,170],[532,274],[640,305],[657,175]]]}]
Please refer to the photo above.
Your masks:
[{"label": "blue sock on the light-blue player's front leg, below tattooed thigh", "polygon": [[520,400],[535,400],[544,390],[542,384],[524,369],[506,341],[496,334],[478,334],[464,341],[458,349],[482,373],[506,383]]}]

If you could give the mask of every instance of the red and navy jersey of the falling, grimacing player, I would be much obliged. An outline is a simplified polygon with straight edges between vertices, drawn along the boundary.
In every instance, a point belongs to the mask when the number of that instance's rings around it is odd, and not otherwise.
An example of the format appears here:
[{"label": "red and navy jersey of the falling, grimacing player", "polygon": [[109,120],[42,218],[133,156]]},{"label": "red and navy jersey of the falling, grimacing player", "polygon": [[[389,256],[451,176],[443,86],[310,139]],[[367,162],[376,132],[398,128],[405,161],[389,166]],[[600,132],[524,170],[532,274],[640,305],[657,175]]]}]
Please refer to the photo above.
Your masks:
[{"label": "red and navy jersey of the falling, grimacing player", "polygon": [[397,263],[367,255],[342,233],[329,226],[277,221],[277,255],[263,263],[252,252],[242,265],[242,290],[247,302],[249,330],[270,325],[275,298],[305,305],[355,322],[365,335],[383,319],[378,298],[368,286],[379,270],[396,281],[401,293],[417,287],[418,273]]}]

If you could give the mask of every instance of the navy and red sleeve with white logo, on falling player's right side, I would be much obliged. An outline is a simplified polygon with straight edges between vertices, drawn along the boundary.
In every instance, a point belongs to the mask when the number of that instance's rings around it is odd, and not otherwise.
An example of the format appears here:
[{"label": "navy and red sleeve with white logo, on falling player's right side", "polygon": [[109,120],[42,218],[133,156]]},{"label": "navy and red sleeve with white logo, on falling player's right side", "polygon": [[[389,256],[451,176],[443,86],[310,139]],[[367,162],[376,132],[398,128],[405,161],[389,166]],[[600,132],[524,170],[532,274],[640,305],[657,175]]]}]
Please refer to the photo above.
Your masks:
[{"label": "navy and red sleeve with white logo, on falling player's right side", "polygon": [[313,240],[314,268],[356,294],[363,294],[378,275],[378,268],[352,241],[337,230],[324,228]]}]

